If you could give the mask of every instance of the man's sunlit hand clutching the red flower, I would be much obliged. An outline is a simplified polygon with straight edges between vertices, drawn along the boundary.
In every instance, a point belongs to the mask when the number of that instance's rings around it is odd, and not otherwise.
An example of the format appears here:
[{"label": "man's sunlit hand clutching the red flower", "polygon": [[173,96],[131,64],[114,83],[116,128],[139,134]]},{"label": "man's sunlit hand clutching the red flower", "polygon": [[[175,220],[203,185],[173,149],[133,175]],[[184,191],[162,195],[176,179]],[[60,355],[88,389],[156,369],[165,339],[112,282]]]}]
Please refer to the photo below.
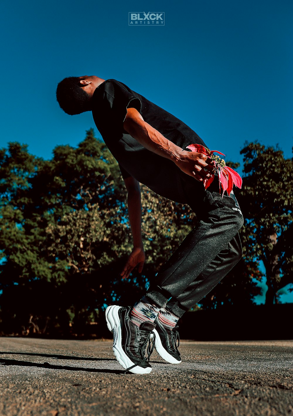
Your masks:
[{"label": "man's sunlit hand clutching the red flower", "polygon": [[200,182],[208,179],[211,173],[215,173],[211,158],[203,153],[183,150],[174,162],[181,171]]}]

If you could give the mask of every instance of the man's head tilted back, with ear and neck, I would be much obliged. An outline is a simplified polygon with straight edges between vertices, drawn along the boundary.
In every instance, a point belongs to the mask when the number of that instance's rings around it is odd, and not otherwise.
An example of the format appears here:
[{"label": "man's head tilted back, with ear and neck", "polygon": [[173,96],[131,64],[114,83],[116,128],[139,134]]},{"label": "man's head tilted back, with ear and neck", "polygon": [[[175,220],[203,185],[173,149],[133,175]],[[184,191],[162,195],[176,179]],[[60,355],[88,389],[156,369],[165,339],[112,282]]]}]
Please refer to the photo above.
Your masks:
[{"label": "man's head tilted back, with ear and neck", "polygon": [[56,90],[57,101],[61,109],[70,115],[90,111],[93,93],[104,81],[95,75],[64,78],[59,82]]}]

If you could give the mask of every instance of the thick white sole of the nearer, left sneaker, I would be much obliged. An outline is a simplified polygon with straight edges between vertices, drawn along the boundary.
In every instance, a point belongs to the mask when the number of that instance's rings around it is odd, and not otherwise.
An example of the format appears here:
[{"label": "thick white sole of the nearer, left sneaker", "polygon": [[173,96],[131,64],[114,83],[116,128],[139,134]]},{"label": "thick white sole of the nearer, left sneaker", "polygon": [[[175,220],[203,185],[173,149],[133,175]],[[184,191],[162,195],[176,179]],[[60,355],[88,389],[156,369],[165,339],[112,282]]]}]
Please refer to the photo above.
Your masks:
[{"label": "thick white sole of the nearer, left sneaker", "polygon": [[[106,322],[109,331],[113,333],[113,352],[114,355],[122,365],[124,369],[127,369],[133,366],[135,363],[132,362],[129,357],[125,354],[122,349],[122,335],[121,335],[121,326],[120,326],[120,319],[118,315],[118,311],[120,310],[121,306],[108,306],[106,309]],[[131,373],[134,374],[149,374],[151,372],[151,367],[143,368],[140,366],[135,366],[129,370]]]}]

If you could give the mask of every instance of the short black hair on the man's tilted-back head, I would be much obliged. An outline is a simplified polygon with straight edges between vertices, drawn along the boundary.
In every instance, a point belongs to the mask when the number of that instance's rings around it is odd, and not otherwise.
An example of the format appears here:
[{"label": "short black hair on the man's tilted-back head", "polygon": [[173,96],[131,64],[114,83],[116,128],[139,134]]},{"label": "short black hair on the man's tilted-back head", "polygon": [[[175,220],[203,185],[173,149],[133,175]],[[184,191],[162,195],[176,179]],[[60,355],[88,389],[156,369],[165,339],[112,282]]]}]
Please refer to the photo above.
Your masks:
[{"label": "short black hair on the man's tilted-back head", "polygon": [[67,114],[81,114],[88,111],[90,96],[81,88],[79,77],[67,77],[59,82],[56,90],[57,101]]}]

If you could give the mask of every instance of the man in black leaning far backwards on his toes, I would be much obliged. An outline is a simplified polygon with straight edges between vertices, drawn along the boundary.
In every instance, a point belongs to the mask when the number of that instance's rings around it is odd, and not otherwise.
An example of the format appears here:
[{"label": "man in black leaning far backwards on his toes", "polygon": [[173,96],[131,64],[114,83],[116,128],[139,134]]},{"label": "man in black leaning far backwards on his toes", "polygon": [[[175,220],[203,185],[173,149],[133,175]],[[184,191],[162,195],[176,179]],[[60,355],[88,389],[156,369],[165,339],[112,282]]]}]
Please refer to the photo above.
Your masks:
[{"label": "man in black leaning far backwards on his toes", "polygon": [[[156,275],[146,295],[133,307],[112,305],[106,320],[113,332],[113,351],[128,371],[146,374],[153,347],[167,362],[181,362],[176,345],[177,322],[229,272],[242,256],[238,230],[243,217],[231,193],[222,197],[211,159],[186,151],[190,144],[206,146],[181,120],[115,79],[69,77],[57,87],[57,100],[68,114],[92,111],[105,144],[119,163],[127,188],[133,250],[122,271],[139,272],[145,260],[141,233],[139,183],[196,213],[198,226]],[[183,97],[181,97],[183,99]],[[183,101],[182,105],[185,103]]]}]

